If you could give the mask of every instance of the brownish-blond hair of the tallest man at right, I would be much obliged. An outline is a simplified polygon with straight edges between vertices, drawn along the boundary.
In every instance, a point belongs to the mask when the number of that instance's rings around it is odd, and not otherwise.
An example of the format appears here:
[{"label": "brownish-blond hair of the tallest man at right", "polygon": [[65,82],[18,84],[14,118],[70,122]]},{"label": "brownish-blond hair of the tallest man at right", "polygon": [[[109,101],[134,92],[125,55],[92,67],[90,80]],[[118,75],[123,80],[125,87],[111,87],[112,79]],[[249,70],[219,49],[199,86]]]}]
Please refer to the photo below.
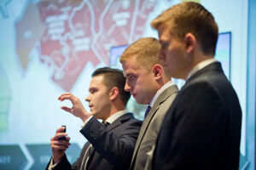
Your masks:
[{"label": "brownish-blond hair of the tallest man at right", "polygon": [[166,9],[151,22],[158,30],[166,24],[172,36],[180,41],[187,33],[192,33],[205,54],[215,54],[218,40],[218,25],[212,14],[200,3],[183,2]]}]

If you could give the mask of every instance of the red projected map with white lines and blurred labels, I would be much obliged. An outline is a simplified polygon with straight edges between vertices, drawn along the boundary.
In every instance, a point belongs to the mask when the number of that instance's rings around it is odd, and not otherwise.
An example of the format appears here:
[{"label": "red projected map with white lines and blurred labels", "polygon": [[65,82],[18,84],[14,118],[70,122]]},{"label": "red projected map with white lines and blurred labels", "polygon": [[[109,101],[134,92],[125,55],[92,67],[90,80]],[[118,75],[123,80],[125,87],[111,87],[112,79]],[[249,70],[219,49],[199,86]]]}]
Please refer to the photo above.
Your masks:
[{"label": "red projected map with white lines and blurred labels", "polygon": [[108,65],[109,49],[142,37],[155,1],[41,1],[29,3],[16,22],[16,52],[26,70],[36,48],[52,80],[73,88],[84,66]]}]

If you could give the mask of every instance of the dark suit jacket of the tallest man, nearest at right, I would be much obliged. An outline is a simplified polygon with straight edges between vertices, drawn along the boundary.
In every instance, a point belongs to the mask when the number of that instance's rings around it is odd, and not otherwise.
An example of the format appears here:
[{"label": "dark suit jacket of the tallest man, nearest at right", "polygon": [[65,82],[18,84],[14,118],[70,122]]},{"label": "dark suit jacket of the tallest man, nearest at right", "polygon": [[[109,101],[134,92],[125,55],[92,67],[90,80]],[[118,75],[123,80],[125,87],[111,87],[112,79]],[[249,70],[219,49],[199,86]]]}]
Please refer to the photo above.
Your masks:
[{"label": "dark suit jacket of the tallest man, nearest at right", "polygon": [[241,107],[219,62],[197,71],[166,114],[154,169],[238,169]]}]

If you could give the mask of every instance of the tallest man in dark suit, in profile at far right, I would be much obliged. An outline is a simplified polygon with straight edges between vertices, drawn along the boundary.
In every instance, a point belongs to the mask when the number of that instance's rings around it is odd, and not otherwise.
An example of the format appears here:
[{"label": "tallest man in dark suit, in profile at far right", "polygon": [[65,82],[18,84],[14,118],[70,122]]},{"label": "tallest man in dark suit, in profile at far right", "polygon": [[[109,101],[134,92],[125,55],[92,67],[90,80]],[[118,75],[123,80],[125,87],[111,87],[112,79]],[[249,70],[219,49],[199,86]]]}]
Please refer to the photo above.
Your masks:
[{"label": "tallest man in dark suit, in profile at far right", "polygon": [[213,58],[218,26],[212,14],[199,3],[179,3],[151,26],[166,71],[186,80],[160,128],[153,168],[238,169],[241,107]]}]

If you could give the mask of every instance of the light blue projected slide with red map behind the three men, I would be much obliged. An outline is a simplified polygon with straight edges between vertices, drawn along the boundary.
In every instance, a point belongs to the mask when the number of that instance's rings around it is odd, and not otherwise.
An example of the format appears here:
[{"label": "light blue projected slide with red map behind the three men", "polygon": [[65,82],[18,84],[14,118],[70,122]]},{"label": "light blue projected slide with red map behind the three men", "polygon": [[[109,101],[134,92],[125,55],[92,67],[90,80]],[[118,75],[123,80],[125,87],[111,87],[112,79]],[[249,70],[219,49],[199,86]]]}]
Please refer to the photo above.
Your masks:
[{"label": "light blue projected slide with red map behind the three men", "polygon": [[[120,68],[126,45],[157,37],[150,21],[180,2],[1,0],[0,169],[44,169],[51,156],[49,140],[61,125],[72,143],[67,158],[75,161],[87,141],[79,133],[83,122],[62,111],[70,103],[57,98],[71,92],[90,111],[84,99],[91,73],[102,66]],[[229,48],[217,53],[226,61],[224,68],[230,66],[230,58],[223,57]],[[142,117],[143,105],[131,100],[128,107]]]}]

